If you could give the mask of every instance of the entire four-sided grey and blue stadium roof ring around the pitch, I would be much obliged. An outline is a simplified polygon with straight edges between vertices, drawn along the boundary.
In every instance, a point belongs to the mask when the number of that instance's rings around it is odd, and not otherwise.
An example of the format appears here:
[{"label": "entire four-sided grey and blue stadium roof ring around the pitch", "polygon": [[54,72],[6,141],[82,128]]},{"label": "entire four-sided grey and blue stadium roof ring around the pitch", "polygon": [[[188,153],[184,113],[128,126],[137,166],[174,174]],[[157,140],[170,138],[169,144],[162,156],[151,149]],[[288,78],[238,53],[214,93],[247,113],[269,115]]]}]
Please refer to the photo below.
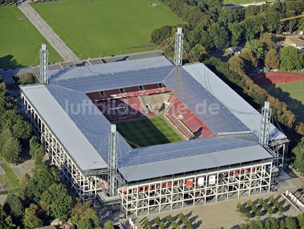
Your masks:
[{"label": "entire four-sided grey and blue stadium roof ring around the pitch", "polygon": [[[119,170],[128,181],[271,157],[257,144],[261,115],[204,64],[175,68],[166,57],[158,56],[54,70],[49,75],[49,85],[25,86],[22,91],[83,170],[106,166],[111,124],[85,93],[159,82],[216,135],[249,130],[255,134],[216,136],[139,149],[132,149],[119,135]],[[210,109],[212,106],[218,107],[213,110],[215,113]],[[285,138],[272,124],[271,132],[272,140]],[[245,147],[246,151],[239,149]],[[88,151],[84,156],[83,152]],[[161,165],[168,167],[161,169]]]}]

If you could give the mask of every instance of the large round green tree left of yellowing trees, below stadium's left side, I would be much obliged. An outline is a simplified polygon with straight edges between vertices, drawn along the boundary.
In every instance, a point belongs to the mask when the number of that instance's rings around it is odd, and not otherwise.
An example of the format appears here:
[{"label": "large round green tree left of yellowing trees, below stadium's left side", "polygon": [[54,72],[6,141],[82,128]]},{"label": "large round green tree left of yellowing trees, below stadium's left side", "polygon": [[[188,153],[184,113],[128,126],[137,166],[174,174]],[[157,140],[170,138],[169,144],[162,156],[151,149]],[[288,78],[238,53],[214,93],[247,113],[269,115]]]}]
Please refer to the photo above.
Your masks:
[{"label": "large round green tree left of yellowing trees, below stadium's left side", "polygon": [[53,184],[42,194],[40,206],[50,215],[66,220],[73,207],[73,199],[63,184]]}]

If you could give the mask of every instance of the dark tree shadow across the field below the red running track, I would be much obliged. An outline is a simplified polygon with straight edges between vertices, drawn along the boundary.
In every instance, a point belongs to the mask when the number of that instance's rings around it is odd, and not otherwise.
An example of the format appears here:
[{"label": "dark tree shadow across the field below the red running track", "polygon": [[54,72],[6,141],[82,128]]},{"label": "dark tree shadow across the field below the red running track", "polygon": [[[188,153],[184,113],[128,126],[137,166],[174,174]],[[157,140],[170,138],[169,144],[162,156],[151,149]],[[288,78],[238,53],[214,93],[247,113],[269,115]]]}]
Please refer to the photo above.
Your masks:
[{"label": "dark tree shadow across the field below the red running track", "polygon": [[304,105],[301,101],[292,98],[289,92],[284,92],[281,88],[276,88],[275,85],[268,86],[267,91],[281,102],[285,102],[295,115],[304,120]]}]

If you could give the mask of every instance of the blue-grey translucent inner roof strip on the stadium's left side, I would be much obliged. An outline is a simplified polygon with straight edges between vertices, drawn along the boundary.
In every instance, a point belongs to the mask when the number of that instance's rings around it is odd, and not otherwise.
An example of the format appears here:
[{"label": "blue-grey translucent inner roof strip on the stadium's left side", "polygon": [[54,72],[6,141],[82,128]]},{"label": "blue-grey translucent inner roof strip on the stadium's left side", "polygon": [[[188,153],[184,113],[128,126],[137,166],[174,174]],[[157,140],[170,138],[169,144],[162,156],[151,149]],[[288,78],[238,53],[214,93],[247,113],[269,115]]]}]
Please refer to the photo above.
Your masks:
[{"label": "blue-grey translucent inner roof strip on the stadium's left side", "polygon": [[[55,85],[47,85],[47,89],[98,154],[108,163],[108,133],[111,123],[84,93]],[[71,139],[71,141],[77,144],[78,139]],[[119,134],[119,154],[121,155],[118,159],[120,160],[130,150],[132,150],[130,145]],[[94,161],[94,158],[91,160]]]}]

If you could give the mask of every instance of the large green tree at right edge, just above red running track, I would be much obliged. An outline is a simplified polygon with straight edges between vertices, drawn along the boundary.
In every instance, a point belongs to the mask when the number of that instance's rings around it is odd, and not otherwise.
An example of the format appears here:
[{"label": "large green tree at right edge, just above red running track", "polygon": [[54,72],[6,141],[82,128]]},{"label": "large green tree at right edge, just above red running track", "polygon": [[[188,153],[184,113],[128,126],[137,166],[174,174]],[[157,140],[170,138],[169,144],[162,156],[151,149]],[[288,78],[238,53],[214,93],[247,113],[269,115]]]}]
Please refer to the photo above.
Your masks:
[{"label": "large green tree at right edge, just above red running track", "polygon": [[299,50],[293,46],[285,45],[280,50],[281,64],[280,68],[282,70],[295,70],[301,69],[304,62],[304,54],[299,52]]}]

